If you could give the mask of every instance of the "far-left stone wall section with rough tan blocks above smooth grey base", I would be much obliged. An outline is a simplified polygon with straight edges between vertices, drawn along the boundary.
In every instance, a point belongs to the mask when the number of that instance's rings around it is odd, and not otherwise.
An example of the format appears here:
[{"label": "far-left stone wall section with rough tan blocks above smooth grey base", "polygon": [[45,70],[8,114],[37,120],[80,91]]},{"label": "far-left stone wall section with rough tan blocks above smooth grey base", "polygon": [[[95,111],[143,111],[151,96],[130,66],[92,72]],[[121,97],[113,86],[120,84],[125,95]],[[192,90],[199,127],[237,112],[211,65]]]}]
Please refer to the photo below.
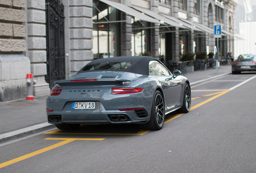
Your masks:
[{"label": "far-left stone wall section with rough tan blocks above smooth grey base", "polygon": [[25,98],[26,51],[25,0],[0,0],[0,101]]}]

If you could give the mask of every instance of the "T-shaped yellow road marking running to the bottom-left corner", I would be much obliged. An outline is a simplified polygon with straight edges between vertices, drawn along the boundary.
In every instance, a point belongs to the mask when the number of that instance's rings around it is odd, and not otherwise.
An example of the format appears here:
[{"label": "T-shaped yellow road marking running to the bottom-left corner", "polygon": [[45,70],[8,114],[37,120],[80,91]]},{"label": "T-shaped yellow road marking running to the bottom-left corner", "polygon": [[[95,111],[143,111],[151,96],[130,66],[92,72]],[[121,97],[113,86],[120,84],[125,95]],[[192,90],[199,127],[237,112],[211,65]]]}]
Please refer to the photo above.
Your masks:
[{"label": "T-shaped yellow road marking running to the bottom-left corner", "polygon": [[35,156],[35,155],[39,155],[39,154],[41,154],[41,153],[44,153],[45,151],[49,151],[49,150],[51,150],[51,149],[60,147],[60,146],[62,146],[62,145],[65,145],[65,144],[67,144],[67,143],[70,143],[70,142],[72,142],[72,141],[76,141],[76,140],[89,140],[89,141],[91,141],[91,140],[103,140],[103,138],[46,138],[46,139],[47,139],[47,140],[65,140],[65,141],[62,141],[62,142],[60,142],[60,143],[56,143],[56,144],[54,144],[54,145],[51,145],[51,146],[49,146],[49,147],[45,147],[45,148],[43,148],[43,149],[39,149],[39,150],[37,150],[37,151],[34,151],[33,153],[29,153],[29,154],[27,154],[27,155],[23,155],[23,156],[18,157],[18,158],[16,158],[16,159],[12,159],[12,160],[10,160],[10,161],[1,163],[1,164],[0,164],[0,168],[6,167],[6,166],[8,166],[8,165],[11,165],[11,164],[13,164],[13,163],[17,163],[17,162],[22,161],[22,160],[25,160],[25,159],[28,159],[29,157],[33,157],[33,156]]}]

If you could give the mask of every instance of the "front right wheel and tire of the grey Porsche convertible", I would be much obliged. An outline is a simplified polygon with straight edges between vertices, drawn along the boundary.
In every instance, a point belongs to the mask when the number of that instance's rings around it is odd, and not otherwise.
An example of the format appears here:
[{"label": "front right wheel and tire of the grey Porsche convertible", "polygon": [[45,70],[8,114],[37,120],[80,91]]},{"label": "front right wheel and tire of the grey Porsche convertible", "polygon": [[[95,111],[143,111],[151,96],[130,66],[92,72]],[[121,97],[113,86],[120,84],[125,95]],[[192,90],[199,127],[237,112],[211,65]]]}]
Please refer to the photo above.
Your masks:
[{"label": "front right wheel and tire of the grey Porsche convertible", "polygon": [[182,107],[178,109],[179,113],[188,113],[191,106],[191,91],[189,85],[186,83],[184,86],[183,103]]}]

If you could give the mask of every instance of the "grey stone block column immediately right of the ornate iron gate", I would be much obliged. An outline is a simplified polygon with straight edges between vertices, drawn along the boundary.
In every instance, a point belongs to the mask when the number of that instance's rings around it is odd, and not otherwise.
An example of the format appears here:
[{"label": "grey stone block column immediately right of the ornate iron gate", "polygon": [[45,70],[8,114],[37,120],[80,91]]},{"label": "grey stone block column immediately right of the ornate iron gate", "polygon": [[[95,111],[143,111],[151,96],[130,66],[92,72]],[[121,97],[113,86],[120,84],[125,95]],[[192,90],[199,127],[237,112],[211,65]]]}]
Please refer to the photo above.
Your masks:
[{"label": "grey stone block column immediately right of the ornate iron gate", "polygon": [[[70,75],[93,60],[93,1],[70,0]],[[66,13],[65,13],[66,14]]]}]

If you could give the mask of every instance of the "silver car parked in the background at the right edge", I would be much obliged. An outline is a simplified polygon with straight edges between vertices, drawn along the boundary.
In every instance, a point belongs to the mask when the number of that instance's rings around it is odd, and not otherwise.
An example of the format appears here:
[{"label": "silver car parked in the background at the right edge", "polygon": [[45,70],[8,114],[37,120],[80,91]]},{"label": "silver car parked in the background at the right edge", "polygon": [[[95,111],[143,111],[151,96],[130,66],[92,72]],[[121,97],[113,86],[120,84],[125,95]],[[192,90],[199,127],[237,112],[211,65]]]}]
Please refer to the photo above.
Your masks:
[{"label": "silver car parked in the background at the right edge", "polygon": [[232,74],[240,74],[243,71],[256,71],[256,55],[241,54],[232,63]]}]

